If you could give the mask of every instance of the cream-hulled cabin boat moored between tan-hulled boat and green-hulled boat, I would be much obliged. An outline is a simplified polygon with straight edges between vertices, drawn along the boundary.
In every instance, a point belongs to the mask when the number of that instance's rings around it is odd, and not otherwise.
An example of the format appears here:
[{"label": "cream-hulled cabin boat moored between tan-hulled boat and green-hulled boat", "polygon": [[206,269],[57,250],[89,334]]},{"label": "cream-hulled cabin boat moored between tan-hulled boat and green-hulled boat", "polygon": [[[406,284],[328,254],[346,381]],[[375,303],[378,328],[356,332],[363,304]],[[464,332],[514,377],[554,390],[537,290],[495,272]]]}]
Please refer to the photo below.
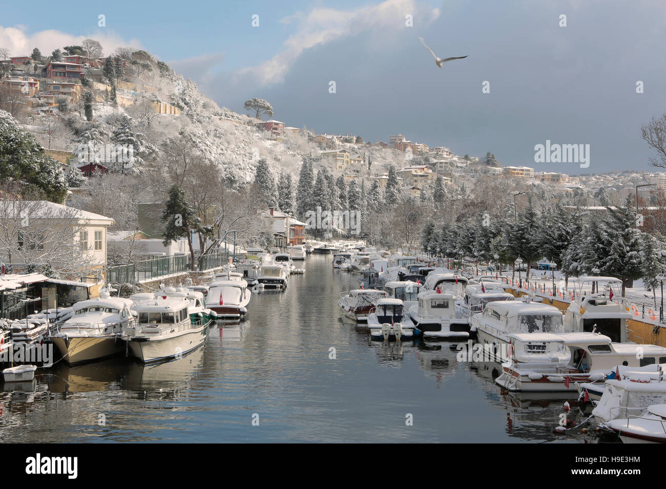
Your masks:
[{"label": "cream-hulled cabin boat moored between tan-hulled boat and green-hulled boat", "polygon": [[158,297],[136,304],[137,321],[123,331],[139,361],[151,363],[180,358],[200,347],[210,321],[190,319],[189,301]]}]

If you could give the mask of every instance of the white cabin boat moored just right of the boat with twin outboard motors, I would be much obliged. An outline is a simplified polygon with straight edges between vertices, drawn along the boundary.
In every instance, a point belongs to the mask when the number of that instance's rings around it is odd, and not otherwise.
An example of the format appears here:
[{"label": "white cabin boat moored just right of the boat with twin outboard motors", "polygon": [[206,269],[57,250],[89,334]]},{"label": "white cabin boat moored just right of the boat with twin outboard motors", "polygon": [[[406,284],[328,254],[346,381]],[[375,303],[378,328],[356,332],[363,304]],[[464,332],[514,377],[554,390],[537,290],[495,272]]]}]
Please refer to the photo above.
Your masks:
[{"label": "white cabin boat moored just right of the boat with twin outboard motors", "polygon": [[464,339],[470,337],[470,323],[456,315],[456,296],[434,290],[418,294],[418,304],[408,310],[414,326],[425,338]]}]

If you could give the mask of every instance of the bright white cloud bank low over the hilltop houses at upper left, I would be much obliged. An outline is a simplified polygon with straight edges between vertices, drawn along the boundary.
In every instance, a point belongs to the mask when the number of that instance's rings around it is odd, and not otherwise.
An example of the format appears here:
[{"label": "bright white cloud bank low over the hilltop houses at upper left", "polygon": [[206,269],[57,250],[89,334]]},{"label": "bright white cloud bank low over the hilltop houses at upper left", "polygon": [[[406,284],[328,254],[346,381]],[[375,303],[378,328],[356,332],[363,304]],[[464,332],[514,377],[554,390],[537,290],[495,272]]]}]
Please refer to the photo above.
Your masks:
[{"label": "bright white cloud bank low over the hilltop houses at upper left", "polygon": [[11,56],[29,55],[35,47],[39,48],[42,55],[47,56],[56,48],[63,49],[63,46],[81,45],[81,42],[88,38],[99,41],[105,55],[110,55],[116,48],[122,46],[132,46],[139,49],[142,47],[141,42],[137,39],[125,41],[125,39],[111,31],[98,32],[87,36],[73,36],[54,29],[33,34],[27,34],[26,31],[27,28],[23,25],[16,27],[0,25],[0,47],[9,49]]}]

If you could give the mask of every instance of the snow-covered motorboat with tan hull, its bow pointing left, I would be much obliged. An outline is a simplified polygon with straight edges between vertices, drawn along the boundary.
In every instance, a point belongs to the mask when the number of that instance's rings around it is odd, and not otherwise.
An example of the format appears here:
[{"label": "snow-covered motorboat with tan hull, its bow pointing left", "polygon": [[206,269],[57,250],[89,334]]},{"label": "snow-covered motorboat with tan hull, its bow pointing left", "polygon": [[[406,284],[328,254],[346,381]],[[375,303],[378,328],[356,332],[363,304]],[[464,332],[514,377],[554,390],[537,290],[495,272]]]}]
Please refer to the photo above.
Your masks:
[{"label": "snow-covered motorboat with tan hull, its bow pointing left", "polygon": [[103,291],[99,299],[75,303],[74,315],[52,335],[53,343],[69,365],[87,363],[125,352],[119,335],[134,319],[130,299],[110,297]]}]

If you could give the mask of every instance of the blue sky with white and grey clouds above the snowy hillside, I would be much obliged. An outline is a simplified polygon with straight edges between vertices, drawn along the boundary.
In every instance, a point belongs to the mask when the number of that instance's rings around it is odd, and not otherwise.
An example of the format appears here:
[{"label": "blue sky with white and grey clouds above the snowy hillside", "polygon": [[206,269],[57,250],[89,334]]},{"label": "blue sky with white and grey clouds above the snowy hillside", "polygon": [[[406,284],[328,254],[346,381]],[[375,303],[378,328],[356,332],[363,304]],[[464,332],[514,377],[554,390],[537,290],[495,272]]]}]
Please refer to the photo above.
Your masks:
[{"label": "blue sky with white and grey clouds above the snowy hillside", "polygon": [[[52,7],[33,1],[27,14],[21,3],[4,5],[0,47],[11,55],[35,46],[49,54],[91,37],[107,55],[131,45],[237,112],[245,112],[244,100],[265,98],[286,126],[372,142],[400,133],[460,155],[490,151],[504,166],[567,174],[653,170],[641,125],[666,112],[663,0],[119,0]],[[440,69],[419,37],[439,57],[468,58]],[[535,162],[535,145],[547,140],[589,144],[589,167]]]}]

